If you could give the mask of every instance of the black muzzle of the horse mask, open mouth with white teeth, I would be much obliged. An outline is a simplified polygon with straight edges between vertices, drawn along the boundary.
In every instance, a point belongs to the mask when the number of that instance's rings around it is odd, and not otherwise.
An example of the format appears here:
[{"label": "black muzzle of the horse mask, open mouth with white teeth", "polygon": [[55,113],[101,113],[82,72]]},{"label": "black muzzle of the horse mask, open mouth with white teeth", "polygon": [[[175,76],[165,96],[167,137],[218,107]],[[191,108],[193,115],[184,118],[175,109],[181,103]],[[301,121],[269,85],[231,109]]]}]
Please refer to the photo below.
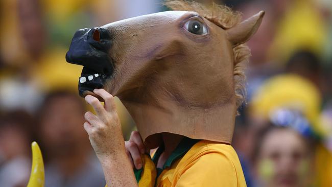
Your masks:
[{"label": "black muzzle of the horse mask, open mouth with white teeth", "polygon": [[79,93],[103,88],[104,83],[113,73],[113,63],[109,56],[112,40],[111,34],[104,28],[80,29],[72,39],[66,61],[83,65],[79,78]]}]

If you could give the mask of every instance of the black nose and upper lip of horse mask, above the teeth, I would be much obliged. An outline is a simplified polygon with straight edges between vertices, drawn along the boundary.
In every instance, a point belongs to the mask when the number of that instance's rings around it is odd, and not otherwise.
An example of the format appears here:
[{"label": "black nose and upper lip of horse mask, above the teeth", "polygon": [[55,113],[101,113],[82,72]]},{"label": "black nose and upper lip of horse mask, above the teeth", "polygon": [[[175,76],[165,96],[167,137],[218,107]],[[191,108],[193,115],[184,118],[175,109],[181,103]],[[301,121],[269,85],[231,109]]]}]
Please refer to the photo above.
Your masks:
[{"label": "black nose and upper lip of horse mask, above the teeth", "polygon": [[105,28],[80,29],[74,34],[66,61],[98,73],[111,74],[113,68],[108,55],[111,44],[111,35]]}]

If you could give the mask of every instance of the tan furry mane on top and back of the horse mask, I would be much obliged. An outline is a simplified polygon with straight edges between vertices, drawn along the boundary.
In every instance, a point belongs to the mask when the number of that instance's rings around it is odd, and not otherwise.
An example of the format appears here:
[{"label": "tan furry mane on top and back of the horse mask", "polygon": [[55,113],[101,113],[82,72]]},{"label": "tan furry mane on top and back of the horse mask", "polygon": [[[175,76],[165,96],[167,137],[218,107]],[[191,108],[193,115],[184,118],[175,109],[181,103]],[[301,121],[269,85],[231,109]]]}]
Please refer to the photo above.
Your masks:
[{"label": "tan furry mane on top and back of the horse mask", "polygon": [[[233,11],[231,8],[223,5],[212,3],[207,7],[197,2],[189,2],[185,0],[165,0],[164,6],[172,10],[194,11],[205,17],[223,29],[229,29],[238,25],[242,19],[242,14]],[[236,107],[241,106],[245,101],[246,90],[245,69],[250,57],[250,49],[246,44],[241,44],[233,48],[234,56],[234,91],[236,97]]]}]

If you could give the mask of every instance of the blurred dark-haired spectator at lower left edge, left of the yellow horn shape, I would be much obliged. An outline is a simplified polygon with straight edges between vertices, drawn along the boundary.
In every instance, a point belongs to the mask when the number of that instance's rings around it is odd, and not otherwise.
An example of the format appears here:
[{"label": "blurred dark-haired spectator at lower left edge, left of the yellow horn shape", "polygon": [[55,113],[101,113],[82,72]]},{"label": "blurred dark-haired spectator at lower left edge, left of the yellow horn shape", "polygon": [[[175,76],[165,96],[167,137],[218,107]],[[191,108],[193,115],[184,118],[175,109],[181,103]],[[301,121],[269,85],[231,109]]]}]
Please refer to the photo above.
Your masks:
[{"label": "blurred dark-haired spectator at lower left edge, left of the yellow horn shape", "polygon": [[26,186],[31,171],[29,154],[33,119],[25,111],[0,118],[0,186]]}]

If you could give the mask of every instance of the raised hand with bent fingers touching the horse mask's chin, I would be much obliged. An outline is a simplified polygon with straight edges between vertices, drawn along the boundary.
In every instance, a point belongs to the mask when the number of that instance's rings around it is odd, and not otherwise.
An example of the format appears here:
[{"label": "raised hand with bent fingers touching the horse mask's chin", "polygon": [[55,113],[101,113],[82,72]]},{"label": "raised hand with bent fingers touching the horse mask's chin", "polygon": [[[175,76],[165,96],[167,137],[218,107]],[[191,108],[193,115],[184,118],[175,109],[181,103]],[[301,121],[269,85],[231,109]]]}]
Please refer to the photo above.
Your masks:
[{"label": "raised hand with bent fingers touching the horse mask's chin", "polygon": [[124,138],[113,96],[104,89],[94,89],[93,93],[105,101],[103,106],[96,97],[91,95],[85,97],[85,101],[97,114],[87,111],[84,115],[86,120],[84,129],[89,135],[94,152],[100,160],[125,154]]}]

